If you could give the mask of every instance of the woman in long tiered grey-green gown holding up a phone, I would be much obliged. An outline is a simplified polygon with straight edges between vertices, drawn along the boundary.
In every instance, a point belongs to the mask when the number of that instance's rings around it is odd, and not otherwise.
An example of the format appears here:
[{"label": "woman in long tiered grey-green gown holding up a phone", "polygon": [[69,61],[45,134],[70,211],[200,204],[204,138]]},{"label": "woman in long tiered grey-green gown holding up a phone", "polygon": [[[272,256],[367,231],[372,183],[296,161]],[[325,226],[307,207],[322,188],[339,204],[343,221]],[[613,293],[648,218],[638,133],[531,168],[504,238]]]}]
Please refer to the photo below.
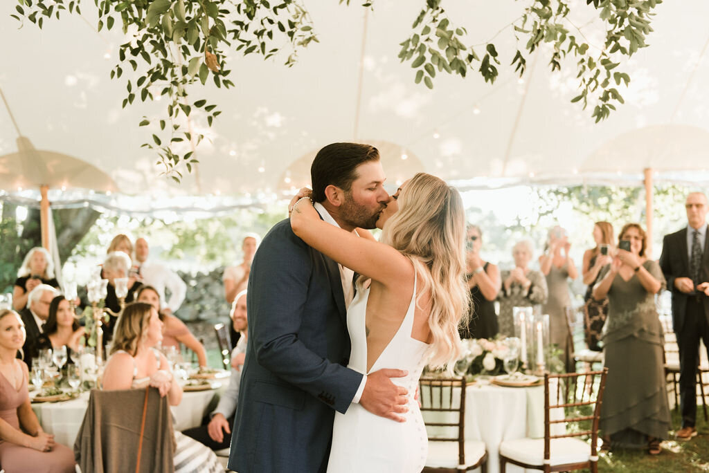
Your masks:
[{"label": "woman in long tiered grey-green gown holding up a phone", "polygon": [[[613,263],[601,270],[593,297],[608,297],[603,351],[608,378],[601,430],[611,448],[648,448],[657,455],[670,426],[665,390],[662,326],[654,295],[665,285],[657,261],[645,258],[639,224],[620,232]],[[623,248],[630,246],[630,251]]]}]

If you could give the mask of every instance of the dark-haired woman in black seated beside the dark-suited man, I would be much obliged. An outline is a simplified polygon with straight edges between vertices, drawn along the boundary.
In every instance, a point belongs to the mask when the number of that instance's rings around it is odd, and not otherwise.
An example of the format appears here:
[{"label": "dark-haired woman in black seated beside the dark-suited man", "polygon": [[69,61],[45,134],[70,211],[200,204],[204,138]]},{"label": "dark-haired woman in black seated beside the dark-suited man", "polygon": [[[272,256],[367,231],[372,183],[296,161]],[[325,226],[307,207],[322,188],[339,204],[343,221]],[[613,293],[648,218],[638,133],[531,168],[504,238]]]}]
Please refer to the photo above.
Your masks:
[{"label": "dark-haired woman in black seated beside the dark-suited man", "polygon": [[66,346],[67,363],[74,363],[72,353],[79,351],[84,334],[86,334],[86,329],[79,326],[79,322],[74,318],[69,301],[63,295],[58,295],[52,299],[52,303],[49,306],[49,317],[38,343],[40,350]]}]

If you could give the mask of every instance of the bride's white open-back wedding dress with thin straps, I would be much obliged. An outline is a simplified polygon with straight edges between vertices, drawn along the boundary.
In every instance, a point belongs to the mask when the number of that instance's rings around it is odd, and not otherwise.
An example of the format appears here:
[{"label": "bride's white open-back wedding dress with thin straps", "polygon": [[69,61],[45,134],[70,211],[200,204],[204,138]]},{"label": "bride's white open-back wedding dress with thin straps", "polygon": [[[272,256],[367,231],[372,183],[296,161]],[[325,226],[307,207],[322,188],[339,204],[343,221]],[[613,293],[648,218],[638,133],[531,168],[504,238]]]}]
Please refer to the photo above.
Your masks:
[{"label": "bride's white open-back wedding dress with thin straps", "polygon": [[[350,367],[367,372],[367,335],[365,312],[369,287],[357,292],[347,310],[347,330],[352,340]],[[418,401],[414,398],[418,378],[426,364],[428,343],[411,338],[416,300],[416,280],[406,316],[398,331],[377,358],[370,372],[382,368],[407,370],[408,376],[391,378],[408,389],[406,422],[375,416],[359,404],[351,404],[345,414],[335,413],[333,445],[328,473],[413,473],[425,466],[428,437]]]}]

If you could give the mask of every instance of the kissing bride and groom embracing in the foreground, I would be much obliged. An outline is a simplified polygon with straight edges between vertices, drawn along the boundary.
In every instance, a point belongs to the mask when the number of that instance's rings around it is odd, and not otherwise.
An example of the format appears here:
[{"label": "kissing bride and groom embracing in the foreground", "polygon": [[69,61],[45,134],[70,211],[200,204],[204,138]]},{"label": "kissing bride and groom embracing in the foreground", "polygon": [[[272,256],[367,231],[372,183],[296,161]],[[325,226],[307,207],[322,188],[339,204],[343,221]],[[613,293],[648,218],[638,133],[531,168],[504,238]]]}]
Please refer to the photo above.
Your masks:
[{"label": "kissing bride and groom embracing in the foreground", "polygon": [[376,148],[329,144],[312,195],[296,196],[259,246],[230,469],[423,469],[414,394],[425,365],[461,353],[465,214],[440,178],[418,173],[391,196],[385,179]]}]

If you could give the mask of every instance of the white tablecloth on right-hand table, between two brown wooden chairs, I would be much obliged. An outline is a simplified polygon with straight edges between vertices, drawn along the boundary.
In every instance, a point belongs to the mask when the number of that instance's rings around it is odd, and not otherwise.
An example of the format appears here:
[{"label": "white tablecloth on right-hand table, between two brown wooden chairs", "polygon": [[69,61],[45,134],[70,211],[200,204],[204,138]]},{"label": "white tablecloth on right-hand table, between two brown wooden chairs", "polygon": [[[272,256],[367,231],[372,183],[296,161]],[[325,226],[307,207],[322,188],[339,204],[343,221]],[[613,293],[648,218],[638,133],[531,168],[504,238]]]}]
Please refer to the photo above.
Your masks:
[{"label": "white tablecloth on right-hand table, between two brown wooden chairs", "polygon": [[[482,440],[486,444],[489,473],[500,471],[498,447],[503,440],[544,437],[544,386],[471,384],[465,389],[465,399],[465,438]],[[440,413],[425,414],[432,415],[431,420],[441,416]],[[425,415],[424,420],[428,419]],[[435,428],[427,429],[429,433],[435,433]],[[516,465],[507,464],[507,472],[524,471]]]}]

